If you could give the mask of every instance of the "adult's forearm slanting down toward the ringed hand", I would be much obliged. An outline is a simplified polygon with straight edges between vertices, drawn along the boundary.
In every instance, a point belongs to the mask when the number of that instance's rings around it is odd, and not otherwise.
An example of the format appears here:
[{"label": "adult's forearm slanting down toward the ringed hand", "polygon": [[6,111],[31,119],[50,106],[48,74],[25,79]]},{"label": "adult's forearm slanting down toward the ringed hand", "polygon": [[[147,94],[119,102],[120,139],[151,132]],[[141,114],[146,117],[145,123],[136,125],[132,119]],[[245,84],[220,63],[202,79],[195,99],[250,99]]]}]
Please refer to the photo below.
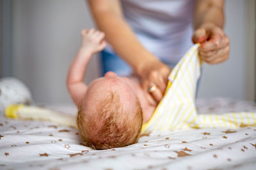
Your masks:
[{"label": "adult's forearm slanting down toward the ringed hand", "polygon": [[93,13],[99,29],[106,34],[108,43],[136,73],[140,74],[145,61],[157,60],[136,38],[124,18],[111,11]]}]

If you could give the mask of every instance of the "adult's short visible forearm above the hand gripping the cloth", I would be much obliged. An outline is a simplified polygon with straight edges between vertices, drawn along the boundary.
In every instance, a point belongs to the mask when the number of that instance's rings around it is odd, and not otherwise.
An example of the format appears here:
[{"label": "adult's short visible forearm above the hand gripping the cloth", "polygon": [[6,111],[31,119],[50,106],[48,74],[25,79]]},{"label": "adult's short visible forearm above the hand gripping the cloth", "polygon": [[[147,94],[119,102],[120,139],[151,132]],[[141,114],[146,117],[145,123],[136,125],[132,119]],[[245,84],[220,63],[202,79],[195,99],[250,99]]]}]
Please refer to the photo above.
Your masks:
[{"label": "adult's short visible forearm above the hand gripping the cloth", "polygon": [[224,25],[223,0],[197,0],[194,13],[194,28],[209,24],[223,28]]}]

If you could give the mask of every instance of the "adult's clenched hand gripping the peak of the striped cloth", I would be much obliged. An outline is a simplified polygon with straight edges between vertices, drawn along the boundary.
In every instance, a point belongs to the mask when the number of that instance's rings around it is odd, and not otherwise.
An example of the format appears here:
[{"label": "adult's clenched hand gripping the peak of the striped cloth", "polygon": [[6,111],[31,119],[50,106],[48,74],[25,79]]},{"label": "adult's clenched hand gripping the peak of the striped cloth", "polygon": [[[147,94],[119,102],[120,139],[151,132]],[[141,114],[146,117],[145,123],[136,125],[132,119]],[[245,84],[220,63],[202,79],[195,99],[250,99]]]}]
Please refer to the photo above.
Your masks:
[{"label": "adult's clenched hand gripping the peak of the striped cloth", "polygon": [[201,43],[198,48],[202,60],[208,64],[224,62],[229,57],[229,38],[214,24],[204,24],[193,34],[193,43]]}]

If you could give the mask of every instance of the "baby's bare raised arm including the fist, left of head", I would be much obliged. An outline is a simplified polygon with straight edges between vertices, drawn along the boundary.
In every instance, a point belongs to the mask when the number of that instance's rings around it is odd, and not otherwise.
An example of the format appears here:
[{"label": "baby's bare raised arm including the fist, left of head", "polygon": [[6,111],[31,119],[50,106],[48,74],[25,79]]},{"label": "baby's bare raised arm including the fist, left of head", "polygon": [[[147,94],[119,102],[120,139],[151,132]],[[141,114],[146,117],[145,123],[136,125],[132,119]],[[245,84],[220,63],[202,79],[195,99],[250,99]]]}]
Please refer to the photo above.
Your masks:
[{"label": "baby's bare raised arm including the fist, left of head", "polygon": [[103,32],[95,31],[95,29],[84,29],[81,35],[83,38],[81,48],[77,52],[67,76],[68,92],[78,108],[81,106],[88,88],[83,81],[87,64],[93,53],[99,52],[106,47]]}]

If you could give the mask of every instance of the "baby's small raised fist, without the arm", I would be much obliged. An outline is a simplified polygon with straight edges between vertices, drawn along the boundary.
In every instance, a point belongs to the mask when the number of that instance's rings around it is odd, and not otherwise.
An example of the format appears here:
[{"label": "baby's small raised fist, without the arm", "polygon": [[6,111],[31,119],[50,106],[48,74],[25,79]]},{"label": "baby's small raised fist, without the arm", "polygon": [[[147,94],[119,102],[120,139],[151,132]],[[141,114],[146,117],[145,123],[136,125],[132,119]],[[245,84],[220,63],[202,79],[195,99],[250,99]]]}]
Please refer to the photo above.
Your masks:
[{"label": "baby's small raised fist, without the arm", "polygon": [[81,35],[83,38],[81,48],[89,50],[92,54],[100,52],[107,45],[106,41],[104,41],[104,32],[95,29],[83,29]]}]

